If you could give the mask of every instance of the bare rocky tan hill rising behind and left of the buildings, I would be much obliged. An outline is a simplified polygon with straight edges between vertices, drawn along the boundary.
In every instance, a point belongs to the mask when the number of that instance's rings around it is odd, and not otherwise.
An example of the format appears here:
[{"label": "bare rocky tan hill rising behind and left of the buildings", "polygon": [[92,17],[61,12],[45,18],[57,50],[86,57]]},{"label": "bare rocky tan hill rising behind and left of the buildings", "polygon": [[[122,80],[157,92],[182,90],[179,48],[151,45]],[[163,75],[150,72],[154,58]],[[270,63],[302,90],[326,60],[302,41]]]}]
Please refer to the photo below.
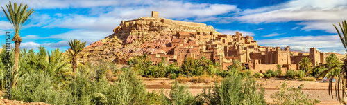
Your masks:
[{"label": "bare rocky tan hill rising behind and left of the buildings", "polygon": [[[162,46],[170,46],[178,32],[202,32],[220,35],[212,26],[204,23],[174,21],[162,17],[140,17],[121,21],[113,34],[96,41],[81,52],[80,61],[112,61],[115,57],[165,53]],[[191,38],[191,40],[194,40]],[[204,43],[204,42],[200,42]]]}]

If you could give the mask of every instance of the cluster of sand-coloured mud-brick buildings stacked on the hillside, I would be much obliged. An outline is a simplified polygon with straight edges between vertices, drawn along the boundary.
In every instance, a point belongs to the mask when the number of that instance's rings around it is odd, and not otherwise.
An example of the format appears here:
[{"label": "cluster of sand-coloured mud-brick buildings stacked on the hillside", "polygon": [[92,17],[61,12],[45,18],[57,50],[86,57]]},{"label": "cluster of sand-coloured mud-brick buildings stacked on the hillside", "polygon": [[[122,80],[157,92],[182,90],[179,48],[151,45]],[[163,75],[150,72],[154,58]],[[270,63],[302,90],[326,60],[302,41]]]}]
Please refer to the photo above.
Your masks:
[{"label": "cluster of sand-coloured mud-brick buildings stacked on the hillside", "polygon": [[[158,12],[152,12],[152,17],[158,17]],[[170,23],[170,21],[161,21]],[[183,64],[185,57],[199,59],[202,56],[221,64],[223,69],[237,59],[251,70],[264,72],[269,69],[298,70],[298,62],[303,57],[310,58],[314,66],[324,63],[325,53],[320,53],[316,48],[310,48],[309,55],[291,55],[290,47],[265,47],[259,46],[252,36],[243,36],[236,32],[235,35],[220,35],[214,32],[177,32],[173,35],[171,44],[160,49],[165,53],[149,54],[153,63],[158,63],[161,57],[166,57],[169,63]],[[116,64],[127,64],[129,57],[114,60]]]}]

